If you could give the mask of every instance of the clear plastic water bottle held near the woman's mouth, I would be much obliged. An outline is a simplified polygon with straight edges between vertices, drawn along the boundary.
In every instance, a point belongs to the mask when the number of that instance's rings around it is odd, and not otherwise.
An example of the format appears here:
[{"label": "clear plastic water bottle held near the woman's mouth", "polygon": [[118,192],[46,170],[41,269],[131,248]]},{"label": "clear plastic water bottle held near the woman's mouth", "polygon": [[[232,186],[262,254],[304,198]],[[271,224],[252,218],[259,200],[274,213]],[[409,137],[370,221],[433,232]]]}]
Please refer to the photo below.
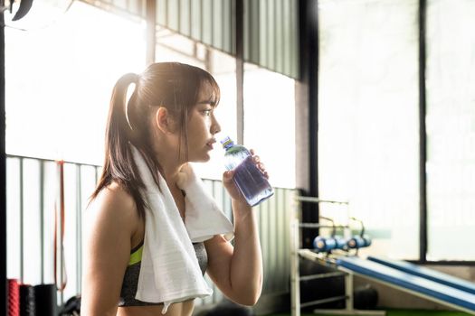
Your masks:
[{"label": "clear plastic water bottle held near the woman's mouth", "polygon": [[247,203],[250,206],[255,206],[261,201],[269,199],[274,194],[271,184],[252,162],[252,155],[246,147],[234,144],[229,137],[225,137],[221,144],[226,150],[224,153],[226,169],[234,171],[233,181]]}]

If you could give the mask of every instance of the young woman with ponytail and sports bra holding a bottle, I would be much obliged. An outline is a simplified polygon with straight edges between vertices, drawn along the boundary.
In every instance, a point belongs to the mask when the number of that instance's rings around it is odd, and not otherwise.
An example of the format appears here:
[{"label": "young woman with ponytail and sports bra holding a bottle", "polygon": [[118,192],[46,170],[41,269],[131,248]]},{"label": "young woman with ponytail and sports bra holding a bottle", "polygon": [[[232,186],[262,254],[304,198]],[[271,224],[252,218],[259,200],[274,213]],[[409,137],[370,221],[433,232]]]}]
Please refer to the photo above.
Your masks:
[{"label": "young woman with ponytail and sports bra holding a bottle", "polygon": [[[210,159],[214,135],[221,130],[214,116],[219,97],[208,72],[176,62],[154,63],[142,74],[118,80],[109,109],[103,172],[84,223],[81,314],[147,316],[165,311],[163,302],[136,299],[149,205],[140,191],[145,184],[132,146],[144,157],[157,185],[158,178],[164,180],[174,209],[185,221],[186,192],[178,185],[179,173],[188,162]],[[259,157],[252,155],[267,177]],[[193,249],[201,273],[205,271],[225,296],[253,305],[262,286],[256,218],[234,186],[233,172],[223,172],[223,185],[232,199],[234,245],[217,234],[193,244]],[[167,260],[158,258],[162,259]],[[188,299],[171,304],[166,315],[187,316],[193,309],[194,300]]]}]

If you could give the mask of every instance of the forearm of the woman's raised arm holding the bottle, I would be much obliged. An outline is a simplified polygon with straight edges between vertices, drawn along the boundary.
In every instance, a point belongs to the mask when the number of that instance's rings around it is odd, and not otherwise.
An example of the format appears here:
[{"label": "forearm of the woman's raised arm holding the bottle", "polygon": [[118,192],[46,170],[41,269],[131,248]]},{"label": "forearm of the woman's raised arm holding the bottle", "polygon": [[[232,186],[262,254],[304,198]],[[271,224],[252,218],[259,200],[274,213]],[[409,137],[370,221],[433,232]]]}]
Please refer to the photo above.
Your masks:
[{"label": "forearm of the woman's raised arm holding the bottle", "polygon": [[262,256],[256,214],[251,207],[233,200],[234,250],[231,284],[243,303],[253,305],[261,295]]}]

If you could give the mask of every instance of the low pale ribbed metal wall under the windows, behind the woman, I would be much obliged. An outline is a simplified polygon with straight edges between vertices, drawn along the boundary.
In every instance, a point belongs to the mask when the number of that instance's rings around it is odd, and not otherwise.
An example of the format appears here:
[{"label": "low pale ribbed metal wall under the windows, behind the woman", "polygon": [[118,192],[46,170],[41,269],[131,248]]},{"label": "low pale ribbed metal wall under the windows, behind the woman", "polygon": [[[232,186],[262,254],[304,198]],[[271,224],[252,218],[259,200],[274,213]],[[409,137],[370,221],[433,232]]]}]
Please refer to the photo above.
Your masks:
[{"label": "low pale ribbed metal wall under the windows, behind the woman", "polygon": [[[29,284],[54,283],[54,228],[58,211],[58,166],[53,160],[7,155],[7,277]],[[101,167],[63,163],[64,246],[68,283],[58,293],[58,304],[81,293],[82,212],[95,188]],[[231,200],[221,181],[204,180],[224,214],[232,219]],[[275,194],[261,203],[258,213],[264,284],[262,296],[290,293],[290,209],[296,191],[274,188]],[[57,217],[57,215],[56,215]],[[59,232],[59,230],[58,230]],[[58,244],[57,244],[58,245]],[[58,283],[62,275],[58,275]],[[212,283],[206,276],[207,281]],[[198,300],[197,305],[221,301],[223,294]]]}]

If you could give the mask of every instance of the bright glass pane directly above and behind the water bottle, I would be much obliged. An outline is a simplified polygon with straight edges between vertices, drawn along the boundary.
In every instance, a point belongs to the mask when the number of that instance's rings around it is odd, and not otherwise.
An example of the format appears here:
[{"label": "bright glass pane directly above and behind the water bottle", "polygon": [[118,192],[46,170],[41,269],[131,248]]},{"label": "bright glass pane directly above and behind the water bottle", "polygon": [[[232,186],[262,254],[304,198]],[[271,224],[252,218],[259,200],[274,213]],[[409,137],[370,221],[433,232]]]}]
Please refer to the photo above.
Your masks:
[{"label": "bright glass pane directly above and behind the water bottle", "polygon": [[245,65],[244,145],[254,149],[274,187],[295,188],[295,81]]}]

